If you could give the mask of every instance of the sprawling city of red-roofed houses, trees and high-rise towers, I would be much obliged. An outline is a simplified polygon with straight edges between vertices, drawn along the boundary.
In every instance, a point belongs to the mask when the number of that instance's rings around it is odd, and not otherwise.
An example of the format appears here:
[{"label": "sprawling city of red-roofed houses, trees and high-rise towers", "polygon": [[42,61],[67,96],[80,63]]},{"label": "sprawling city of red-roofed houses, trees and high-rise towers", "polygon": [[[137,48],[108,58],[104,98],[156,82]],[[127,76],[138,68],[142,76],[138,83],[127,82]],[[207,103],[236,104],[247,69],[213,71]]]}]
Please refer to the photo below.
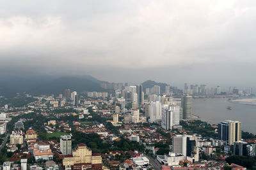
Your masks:
[{"label": "sprawling city of red-roofed houses, trees and high-rise towers", "polygon": [[[102,82],[102,92],[17,94],[0,114],[3,170],[253,169],[256,136],[239,120],[193,115],[193,97],[251,96],[252,89]],[[5,97],[1,97],[4,99]],[[232,109],[232,108],[228,108]]]}]

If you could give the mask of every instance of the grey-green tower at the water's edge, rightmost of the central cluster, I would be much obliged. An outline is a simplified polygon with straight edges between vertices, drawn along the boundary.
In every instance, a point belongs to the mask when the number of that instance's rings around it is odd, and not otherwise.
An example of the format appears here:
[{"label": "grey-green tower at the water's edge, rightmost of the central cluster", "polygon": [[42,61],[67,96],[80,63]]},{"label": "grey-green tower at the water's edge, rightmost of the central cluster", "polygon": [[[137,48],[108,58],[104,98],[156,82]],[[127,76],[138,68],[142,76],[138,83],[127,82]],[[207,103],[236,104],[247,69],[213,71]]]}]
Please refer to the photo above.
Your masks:
[{"label": "grey-green tower at the water's edge, rightmost of the central cluster", "polygon": [[182,118],[191,120],[192,118],[192,96],[188,94],[182,95],[181,98]]}]

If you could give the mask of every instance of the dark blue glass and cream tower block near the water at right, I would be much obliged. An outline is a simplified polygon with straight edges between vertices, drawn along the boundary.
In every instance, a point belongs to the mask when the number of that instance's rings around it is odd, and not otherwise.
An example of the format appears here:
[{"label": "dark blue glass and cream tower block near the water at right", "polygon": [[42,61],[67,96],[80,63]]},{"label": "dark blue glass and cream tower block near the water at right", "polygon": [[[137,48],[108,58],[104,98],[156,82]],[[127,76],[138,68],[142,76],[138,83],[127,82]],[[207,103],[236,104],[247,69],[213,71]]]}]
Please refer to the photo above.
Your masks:
[{"label": "dark blue glass and cream tower block near the water at right", "polygon": [[234,145],[234,142],[241,141],[242,127],[241,122],[225,120],[218,124],[218,138],[227,141],[228,145]]}]

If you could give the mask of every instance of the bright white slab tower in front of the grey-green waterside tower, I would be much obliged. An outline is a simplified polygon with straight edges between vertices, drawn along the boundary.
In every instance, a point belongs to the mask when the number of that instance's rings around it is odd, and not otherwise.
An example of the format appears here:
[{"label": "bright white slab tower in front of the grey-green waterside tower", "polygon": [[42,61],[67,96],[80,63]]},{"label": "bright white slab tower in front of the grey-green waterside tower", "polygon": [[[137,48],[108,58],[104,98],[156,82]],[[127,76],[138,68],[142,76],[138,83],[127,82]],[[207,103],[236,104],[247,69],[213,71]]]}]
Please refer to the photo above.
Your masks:
[{"label": "bright white slab tower in front of the grey-green waterside tower", "polygon": [[172,129],[173,125],[179,125],[180,122],[180,107],[179,106],[162,106],[162,121],[161,127],[166,130]]}]

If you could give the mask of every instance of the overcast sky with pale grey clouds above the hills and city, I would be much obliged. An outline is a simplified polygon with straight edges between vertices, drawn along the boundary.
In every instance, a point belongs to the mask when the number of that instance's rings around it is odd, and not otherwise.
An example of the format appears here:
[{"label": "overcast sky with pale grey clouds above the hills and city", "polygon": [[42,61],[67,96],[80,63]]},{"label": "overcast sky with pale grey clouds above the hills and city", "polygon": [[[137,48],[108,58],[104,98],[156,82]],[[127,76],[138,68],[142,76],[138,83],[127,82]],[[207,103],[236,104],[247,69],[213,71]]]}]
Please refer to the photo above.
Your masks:
[{"label": "overcast sky with pale grey clouds above the hills and city", "polygon": [[5,75],[253,87],[255,45],[254,0],[0,1]]}]

